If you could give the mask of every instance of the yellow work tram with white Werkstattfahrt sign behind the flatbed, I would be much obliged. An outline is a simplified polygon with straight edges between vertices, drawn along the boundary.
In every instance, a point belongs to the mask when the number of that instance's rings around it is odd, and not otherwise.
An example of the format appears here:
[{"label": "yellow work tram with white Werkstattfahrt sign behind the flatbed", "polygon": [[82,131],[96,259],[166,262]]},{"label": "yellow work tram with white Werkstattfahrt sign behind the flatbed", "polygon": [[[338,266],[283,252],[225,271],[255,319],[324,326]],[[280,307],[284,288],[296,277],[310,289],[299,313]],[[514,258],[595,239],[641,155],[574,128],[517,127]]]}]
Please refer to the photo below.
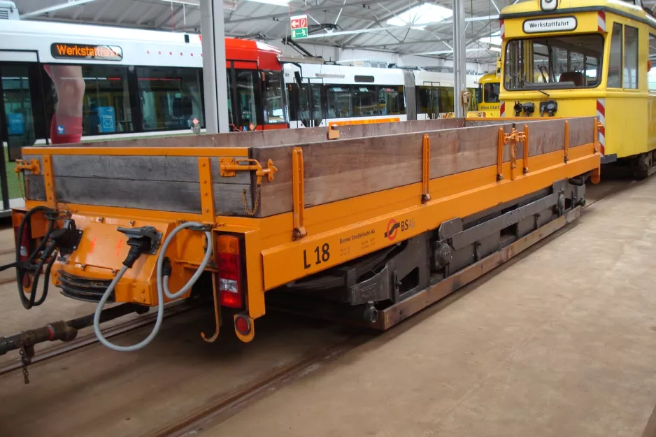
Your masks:
[{"label": "yellow work tram with white Werkstattfahrt sign behind the flatbed", "polygon": [[602,164],[654,171],[656,19],[640,0],[532,0],[500,16],[501,117],[597,116]]}]

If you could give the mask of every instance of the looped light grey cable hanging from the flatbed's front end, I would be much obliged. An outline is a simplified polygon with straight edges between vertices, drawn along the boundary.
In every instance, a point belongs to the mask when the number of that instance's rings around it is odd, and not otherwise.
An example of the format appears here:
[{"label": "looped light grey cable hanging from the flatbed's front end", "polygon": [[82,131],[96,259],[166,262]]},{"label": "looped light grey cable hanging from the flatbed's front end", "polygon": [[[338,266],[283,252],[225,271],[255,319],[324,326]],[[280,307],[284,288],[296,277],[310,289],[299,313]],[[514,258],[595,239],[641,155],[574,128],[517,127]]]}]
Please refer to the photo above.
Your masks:
[{"label": "looped light grey cable hanging from the flatbed's front end", "polygon": [[107,289],[105,290],[105,293],[101,297],[98,306],[96,308],[96,313],[94,314],[94,333],[96,334],[98,341],[100,341],[100,343],[106,345],[108,348],[115,350],[117,352],[134,352],[135,350],[139,350],[150,344],[152,339],[155,338],[155,336],[157,336],[157,333],[159,332],[159,327],[162,326],[162,317],[164,316],[164,294],[166,294],[166,297],[168,297],[169,299],[178,299],[178,297],[183,296],[183,294],[185,294],[187,290],[190,289],[196,283],[196,281],[201,277],[201,274],[205,270],[207,264],[210,262],[210,259],[212,257],[212,234],[210,231],[205,231],[205,236],[207,237],[207,249],[205,250],[205,257],[203,258],[201,265],[198,266],[196,273],[194,273],[192,278],[187,281],[184,287],[182,287],[176,293],[171,293],[171,290],[169,290],[169,276],[166,275],[162,278],[162,266],[164,266],[164,254],[166,253],[166,249],[169,248],[169,243],[171,243],[173,237],[176,236],[176,234],[178,234],[178,232],[182,231],[183,229],[187,229],[190,227],[203,227],[203,224],[199,222],[187,222],[178,225],[178,227],[173,229],[173,231],[171,231],[171,234],[169,234],[169,236],[166,237],[166,240],[164,240],[164,243],[162,244],[162,248],[159,249],[159,255],[157,256],[157,321],[155,322],[155,327],[153,327],[152,331],[150,331],[150,334],[148,334],[148,337],[144,338],[139,343],[136,343],[136,345],[119,346],[110,343],[100,331],[100,314],[102,313],[103,307],[105,306],[107,299],[109,299],[110,294],[112,294],[114,287],[116,286],[118,281],[121,280],[124,273],[127,271],[127,266],[122,266],[118,274],[115,276],[114,280],[110,283],[109,287],[107,287]]}]

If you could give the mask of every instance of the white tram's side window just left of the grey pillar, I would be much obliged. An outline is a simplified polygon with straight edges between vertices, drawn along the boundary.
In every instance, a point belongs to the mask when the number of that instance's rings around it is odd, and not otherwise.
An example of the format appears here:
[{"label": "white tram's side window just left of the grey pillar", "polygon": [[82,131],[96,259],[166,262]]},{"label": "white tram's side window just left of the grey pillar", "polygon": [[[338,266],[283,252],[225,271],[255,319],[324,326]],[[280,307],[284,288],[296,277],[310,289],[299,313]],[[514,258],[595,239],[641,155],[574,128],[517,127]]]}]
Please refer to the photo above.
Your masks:
[{"label": "white tram's side window just left of the grey pillar", "polygon": [[201,69],[137,67],[143,130],[189,129],[196,118],[204,126]]}]

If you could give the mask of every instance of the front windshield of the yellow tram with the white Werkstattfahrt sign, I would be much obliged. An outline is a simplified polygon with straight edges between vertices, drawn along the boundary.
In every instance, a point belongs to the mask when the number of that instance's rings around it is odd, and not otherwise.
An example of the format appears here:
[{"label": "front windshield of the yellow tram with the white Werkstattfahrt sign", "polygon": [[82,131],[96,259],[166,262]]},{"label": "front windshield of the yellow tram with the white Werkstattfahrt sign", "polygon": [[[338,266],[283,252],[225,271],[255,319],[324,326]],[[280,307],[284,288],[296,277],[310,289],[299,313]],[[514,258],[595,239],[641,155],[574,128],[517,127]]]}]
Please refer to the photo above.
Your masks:
[{"label": "front windshield of the yellow tram with the white Werkstattfahrt sign", "polygon": [[506,89],[591,88],[601,82],[599,34],[516,39],[506,45]]}]

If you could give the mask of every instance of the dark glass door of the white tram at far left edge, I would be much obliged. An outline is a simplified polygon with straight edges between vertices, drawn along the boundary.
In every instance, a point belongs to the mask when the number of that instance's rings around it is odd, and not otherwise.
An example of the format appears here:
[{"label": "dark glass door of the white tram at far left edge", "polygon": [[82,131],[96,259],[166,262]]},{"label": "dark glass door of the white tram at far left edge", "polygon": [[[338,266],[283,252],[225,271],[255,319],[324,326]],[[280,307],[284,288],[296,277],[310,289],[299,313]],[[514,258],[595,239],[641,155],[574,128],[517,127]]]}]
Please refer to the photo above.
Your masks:
[{"label": "dark glass door of the white tram at far left edge", "polygon": [[2,209],[9,208],[8,162],[21,156],[21,148],[34,145],[35,78],[39,64],[36,52],[0,50],[0,189]]}]

